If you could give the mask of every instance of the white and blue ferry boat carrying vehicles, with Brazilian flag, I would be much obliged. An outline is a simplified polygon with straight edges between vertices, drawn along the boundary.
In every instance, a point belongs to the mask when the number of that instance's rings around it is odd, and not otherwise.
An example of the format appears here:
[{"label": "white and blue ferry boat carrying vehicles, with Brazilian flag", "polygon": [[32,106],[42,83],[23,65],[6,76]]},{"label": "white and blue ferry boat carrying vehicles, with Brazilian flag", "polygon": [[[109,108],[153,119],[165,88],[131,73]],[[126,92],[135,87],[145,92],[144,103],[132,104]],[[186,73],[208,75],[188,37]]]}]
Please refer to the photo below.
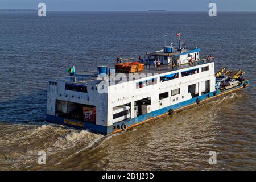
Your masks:
[{"label": "white and blue ferry boat carrying vehicles, with Brazilian flag", "polygon": [[199,48],[186,47],[176,36],[177,48],[164,46],[139,61],[117,59],[114,67],[98,66],[97,72],[76,74],[72,67],[72,76],[50,80],[46,121],[113,134],[249,85],[241,69],[216,73],[213,56],[200,59]]}]

